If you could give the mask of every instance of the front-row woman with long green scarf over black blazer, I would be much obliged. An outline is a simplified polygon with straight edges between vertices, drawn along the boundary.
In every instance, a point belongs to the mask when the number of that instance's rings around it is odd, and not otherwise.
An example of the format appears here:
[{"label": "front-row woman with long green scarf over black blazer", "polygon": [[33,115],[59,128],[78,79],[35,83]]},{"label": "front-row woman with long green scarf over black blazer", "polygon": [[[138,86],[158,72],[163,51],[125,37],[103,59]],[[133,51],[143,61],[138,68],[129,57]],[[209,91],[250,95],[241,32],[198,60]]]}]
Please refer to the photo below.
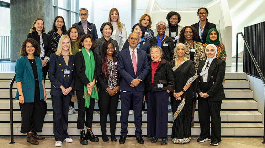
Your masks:
[{"label": "front-row woman with long green scarf over black blazer", "polygon": [[[87,140],[98,142],[92,132],[93,110],[95,100],[98,100],[98,90],[96,84],[96,54],[93,49],[96,44],[91,34],[81,36],[78,48],[82,49],[76,53],[76,82],[75,89],[77,94],[78,116],[77,128],[80,129],[80,143],[88,144]],[[86,117],[85,117],[86,114]],[[85,121],[86,119],[86,121]],[[87,127],[87,134],[84,130]]]}]

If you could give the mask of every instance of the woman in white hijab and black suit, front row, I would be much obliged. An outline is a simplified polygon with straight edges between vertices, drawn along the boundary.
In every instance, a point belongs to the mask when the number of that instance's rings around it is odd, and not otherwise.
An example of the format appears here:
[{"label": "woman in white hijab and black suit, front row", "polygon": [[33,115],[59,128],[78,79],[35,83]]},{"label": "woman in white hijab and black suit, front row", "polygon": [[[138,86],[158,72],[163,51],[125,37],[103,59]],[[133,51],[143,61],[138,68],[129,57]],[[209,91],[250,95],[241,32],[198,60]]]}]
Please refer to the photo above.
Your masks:
[{"label": "woman in white hijab and black suit, front row", "polygon": [[[225,99],[223,79],[225,61],[216,59],[217,48],[209,44],[205,48],[206,60],[199,62],[199,86],[197,92],[199,122],[201,127],[198,142],[211,140],[210,145],[218,146],[221,142],[221,104]],[[210,130],[210,116],[212,119]]]}]

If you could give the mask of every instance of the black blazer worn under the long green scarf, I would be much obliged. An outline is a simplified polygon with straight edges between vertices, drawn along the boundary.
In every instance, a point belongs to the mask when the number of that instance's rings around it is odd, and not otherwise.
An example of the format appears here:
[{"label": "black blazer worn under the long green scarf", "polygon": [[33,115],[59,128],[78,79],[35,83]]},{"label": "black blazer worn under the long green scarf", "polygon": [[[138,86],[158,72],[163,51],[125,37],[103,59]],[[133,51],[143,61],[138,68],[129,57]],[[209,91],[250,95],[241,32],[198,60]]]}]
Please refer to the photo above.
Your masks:
[{"label": "black blazer worn under the long green scarf", "polygon": [[[94,51],[92,52],[93,52],[94,60],[95,60],[94,78],[97,79],[97,74],[96,74],[97,55]],[[87,79],[87,76],[85,74],[86,65],[85,65],[85,60],[84,60],[82,51],[79,51],[76,53],[75,63],[76,63],[76,72],[77,72],[76,81],[75,81],[75,89],[84,91],[84,85],[87,85],[88,83],[90,83],[90,81]]]}]

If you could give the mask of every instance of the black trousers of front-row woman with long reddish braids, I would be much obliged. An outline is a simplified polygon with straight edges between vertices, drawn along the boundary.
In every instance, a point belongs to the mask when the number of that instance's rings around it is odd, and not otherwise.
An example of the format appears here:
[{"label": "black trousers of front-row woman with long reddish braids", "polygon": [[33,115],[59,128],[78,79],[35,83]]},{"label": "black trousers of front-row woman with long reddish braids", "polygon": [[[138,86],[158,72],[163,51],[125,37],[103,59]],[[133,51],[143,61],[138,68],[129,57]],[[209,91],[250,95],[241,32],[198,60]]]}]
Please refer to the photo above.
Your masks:
[{"label": "black trousers of front-row woman with long reddish braids", "polygon": [[98,97],[100,99],[100,127],[102,136],[107,135],[107,116],[109,114],[110,134],[115,135],[117,124],[117,107],[119,103],[119,93],[110,96],[102,88],[98,90]]}]

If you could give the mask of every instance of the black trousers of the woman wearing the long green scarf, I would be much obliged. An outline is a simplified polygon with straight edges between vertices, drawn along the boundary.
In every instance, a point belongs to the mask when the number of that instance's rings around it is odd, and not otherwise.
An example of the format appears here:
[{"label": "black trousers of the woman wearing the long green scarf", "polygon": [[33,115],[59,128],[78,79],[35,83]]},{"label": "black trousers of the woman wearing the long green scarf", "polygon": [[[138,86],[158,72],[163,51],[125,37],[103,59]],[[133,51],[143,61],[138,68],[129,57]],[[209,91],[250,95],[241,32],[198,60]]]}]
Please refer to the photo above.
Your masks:
[{"label": "black trousers of the woman wearing the long green scarf", "polygon": [[83,98],[84,91],[76,90],[76,94],[77,94],[77,106],[78,106],[77,128],[81,130],[84,129],[85,123],[86,127],[92,128],[95,99],[90,98],[89,108],[87,108],[85,107],[85,99]]}]

